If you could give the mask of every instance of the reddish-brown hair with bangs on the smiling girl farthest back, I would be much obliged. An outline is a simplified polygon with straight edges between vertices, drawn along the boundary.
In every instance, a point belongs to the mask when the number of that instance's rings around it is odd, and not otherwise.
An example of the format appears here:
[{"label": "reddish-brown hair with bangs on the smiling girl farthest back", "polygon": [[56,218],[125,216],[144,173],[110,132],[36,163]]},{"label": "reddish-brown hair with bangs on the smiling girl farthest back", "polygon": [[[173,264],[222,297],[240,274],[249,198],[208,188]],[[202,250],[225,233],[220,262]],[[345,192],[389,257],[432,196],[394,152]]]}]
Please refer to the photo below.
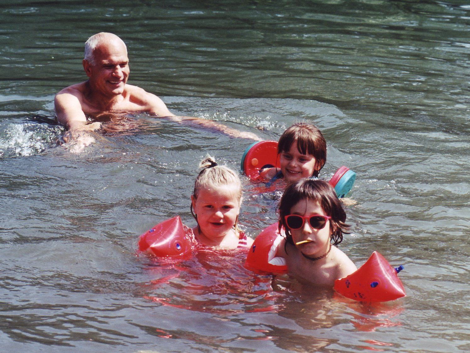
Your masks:
[{"label": "reddish-brown hair with bangs on the smiling girl farthest back", "polygon": [[313,176],[320,173],[326,163],[326,141],[319,128],[313,124],[298,122],[288,128],[279,138],[277,153],[289,152],[292,144],[297,144],[298,152],[315,157]]}]

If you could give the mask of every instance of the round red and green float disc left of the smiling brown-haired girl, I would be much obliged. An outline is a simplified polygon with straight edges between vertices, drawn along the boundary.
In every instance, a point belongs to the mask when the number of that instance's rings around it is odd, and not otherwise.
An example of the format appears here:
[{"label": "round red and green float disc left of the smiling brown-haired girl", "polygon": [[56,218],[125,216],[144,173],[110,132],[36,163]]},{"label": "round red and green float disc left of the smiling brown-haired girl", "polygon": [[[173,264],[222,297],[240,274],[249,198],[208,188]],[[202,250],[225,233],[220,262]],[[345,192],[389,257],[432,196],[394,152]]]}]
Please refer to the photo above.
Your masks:
[{"label": "round red and green float disc left of the smiling brown-haired girl", "polygon": [[248,146],[243,153],[240,167],[251,180],[258,180],[259,170],[268,164],[279,168],[276,141],[259,141]]}]

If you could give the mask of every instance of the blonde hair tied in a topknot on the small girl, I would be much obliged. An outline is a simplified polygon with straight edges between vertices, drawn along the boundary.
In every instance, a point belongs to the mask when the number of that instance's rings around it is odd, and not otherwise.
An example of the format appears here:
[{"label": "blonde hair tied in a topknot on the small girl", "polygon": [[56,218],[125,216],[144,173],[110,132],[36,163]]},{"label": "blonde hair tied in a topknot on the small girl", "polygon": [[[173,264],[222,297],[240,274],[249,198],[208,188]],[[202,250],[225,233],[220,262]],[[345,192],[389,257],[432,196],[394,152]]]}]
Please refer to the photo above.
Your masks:
[{"label": "blonde hair tied in a topknot on the small girl", "polygon": [[201,160],[199,168],[202,168],[202,170],[199,172],[199,175],[196,177],[196,181],[194,182],[193,196],[195,199],[197,199],[197,195],[201,188],[211,189],[220,185],[229,184],[235,184],[238,190],[238,198],[240,199],[242,197],[242,183],[240,182],[238,174],[232,169],[226,166],[219,166],[214,157],[209,155]]}]

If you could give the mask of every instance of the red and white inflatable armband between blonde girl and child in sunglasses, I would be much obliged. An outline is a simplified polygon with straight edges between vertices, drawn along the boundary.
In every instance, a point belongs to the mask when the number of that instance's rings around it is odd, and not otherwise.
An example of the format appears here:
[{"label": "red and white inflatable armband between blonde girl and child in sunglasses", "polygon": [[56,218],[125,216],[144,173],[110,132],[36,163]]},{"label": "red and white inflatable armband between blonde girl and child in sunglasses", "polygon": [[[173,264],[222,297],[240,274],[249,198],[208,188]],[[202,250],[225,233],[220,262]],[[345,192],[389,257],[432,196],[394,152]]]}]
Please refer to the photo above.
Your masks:
[{"label": "red and white inflatable armband between blonde girl and child in sunglasses", "polygon": [[277,227],[278,224],[274,223],[258,234],[248,251],[246,268],[254,272],[287,273],[285,259],[275,257],[276,249],[282,240]]}]

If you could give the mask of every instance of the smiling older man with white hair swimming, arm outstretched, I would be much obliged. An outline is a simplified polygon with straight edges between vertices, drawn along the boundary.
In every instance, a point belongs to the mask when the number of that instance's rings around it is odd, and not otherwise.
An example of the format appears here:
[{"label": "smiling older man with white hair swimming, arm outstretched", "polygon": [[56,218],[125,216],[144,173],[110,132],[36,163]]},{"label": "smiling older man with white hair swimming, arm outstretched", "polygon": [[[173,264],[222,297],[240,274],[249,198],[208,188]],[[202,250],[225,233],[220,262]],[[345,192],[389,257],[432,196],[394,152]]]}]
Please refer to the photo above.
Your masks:
[{"label": "smiling older man with white hair swimming, arm outstretched", "polygon": [[[112,117],[132,112],[183,121],[232,137],[259,140],[255,134],[228,128],[212,120],[176,116],[154,94],[127,84],[127,48],[124,41],[113,33],[97,33],[86,41],[83,68],[88,80],[64,88],[55,96],[57,120],[69,130],[63,136],[65,142],[79,139],[84,136],[84,132],[100,128],[101,123],[96,121],[100,116]],[[87,117],[95,122],[89,123]]]}]

